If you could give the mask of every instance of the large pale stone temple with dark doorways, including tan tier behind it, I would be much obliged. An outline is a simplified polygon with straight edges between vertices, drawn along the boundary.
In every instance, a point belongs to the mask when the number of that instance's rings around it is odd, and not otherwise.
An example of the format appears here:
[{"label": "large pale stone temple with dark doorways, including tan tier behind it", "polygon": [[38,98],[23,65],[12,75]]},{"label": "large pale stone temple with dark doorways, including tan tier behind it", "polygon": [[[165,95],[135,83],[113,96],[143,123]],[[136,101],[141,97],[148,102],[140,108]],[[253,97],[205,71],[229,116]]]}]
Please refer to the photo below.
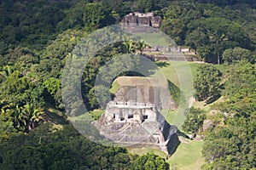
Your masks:
[{"label": "large pale stone temple with dark doorways, including tan tier behind it", "polygon": [[116,98],[108,102],[96,122],[101,135],[116,144],[150,146],[172,155],[180,142],[177,127],[160,114],[162,108],[172,107],[165,81],[145,77],[119,77],[116,81],[120,85]]}]

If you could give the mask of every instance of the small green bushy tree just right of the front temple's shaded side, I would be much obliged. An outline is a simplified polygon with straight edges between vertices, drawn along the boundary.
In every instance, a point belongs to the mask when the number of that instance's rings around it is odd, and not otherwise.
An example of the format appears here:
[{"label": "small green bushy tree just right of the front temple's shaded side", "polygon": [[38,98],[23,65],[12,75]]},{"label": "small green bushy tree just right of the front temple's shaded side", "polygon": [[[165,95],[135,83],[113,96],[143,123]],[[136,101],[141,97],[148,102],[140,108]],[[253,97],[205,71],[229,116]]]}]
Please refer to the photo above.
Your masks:
[{"label": "small green bushy tree just right of the front temple's shaded side", "polygon": [[183,123],[183,130],[187,133],[197,133],[201,130],[202,124],[206,119],[205,111],[201,109],[190,108],[186,120]]}]

